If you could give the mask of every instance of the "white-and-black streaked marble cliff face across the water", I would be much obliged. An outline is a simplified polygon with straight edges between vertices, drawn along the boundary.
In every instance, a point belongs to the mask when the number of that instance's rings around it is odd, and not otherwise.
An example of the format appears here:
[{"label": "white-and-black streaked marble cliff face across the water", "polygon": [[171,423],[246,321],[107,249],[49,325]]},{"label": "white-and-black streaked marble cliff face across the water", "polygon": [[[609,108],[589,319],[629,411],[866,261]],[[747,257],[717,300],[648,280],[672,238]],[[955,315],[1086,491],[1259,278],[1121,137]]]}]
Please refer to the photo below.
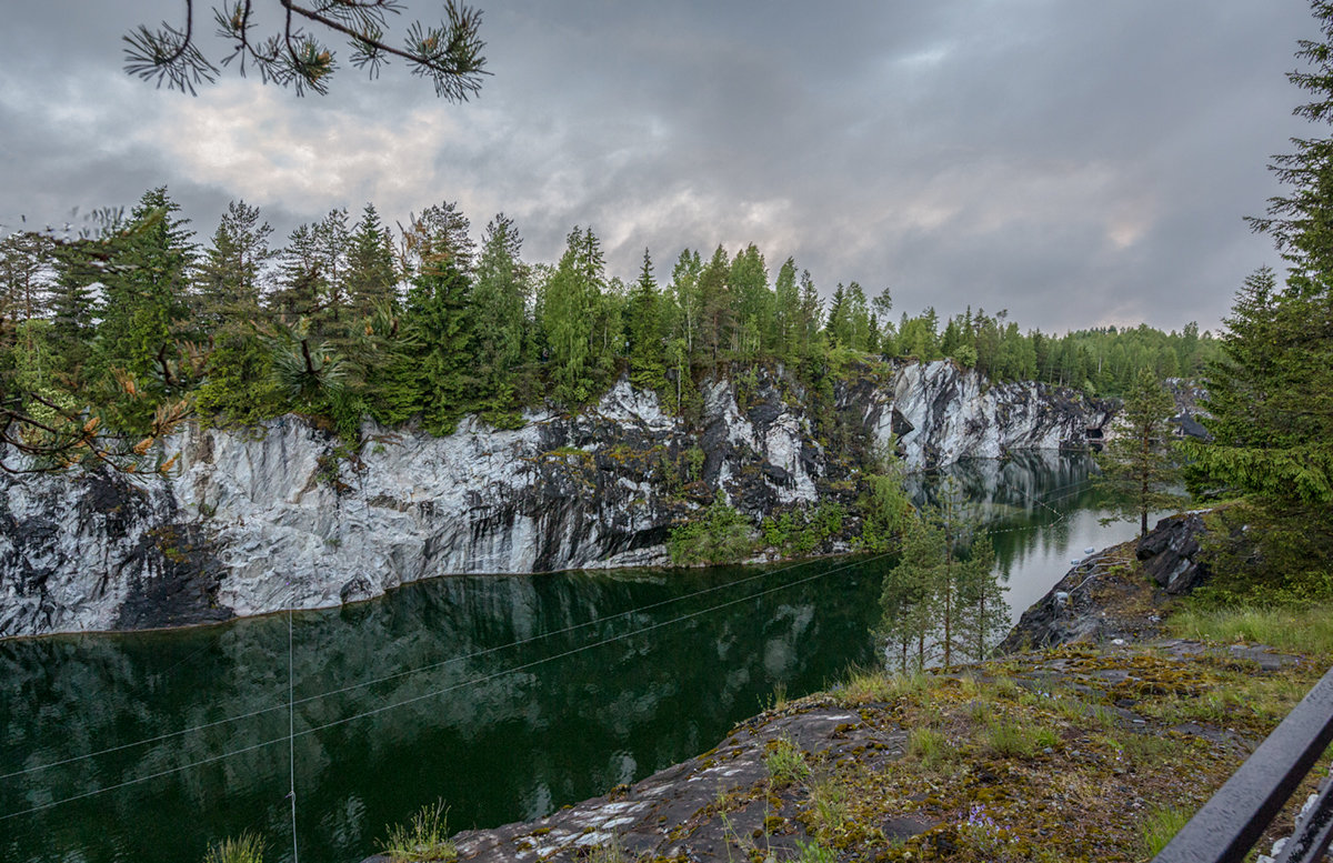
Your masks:
[{"label": "white-and-black streaked marble cliff face across the water", "polygon": [[672,527],[718,491],[754,521],[850,502],[856,446],[896,435],[909,465],[936,466],[1081,445],[1109,420],[1074,393],[986,386],[949,362],[840,384],[833,413],[830,443],[778,372],[741,397],[705,385],[689,426],[620,381],[584,413],[533,412],[520,429],[367,428],[351,453],[285,417],[187,428],[164,442],[171,477],[3,475],[0,638],[336,606],[449,573],[661,565]]}]

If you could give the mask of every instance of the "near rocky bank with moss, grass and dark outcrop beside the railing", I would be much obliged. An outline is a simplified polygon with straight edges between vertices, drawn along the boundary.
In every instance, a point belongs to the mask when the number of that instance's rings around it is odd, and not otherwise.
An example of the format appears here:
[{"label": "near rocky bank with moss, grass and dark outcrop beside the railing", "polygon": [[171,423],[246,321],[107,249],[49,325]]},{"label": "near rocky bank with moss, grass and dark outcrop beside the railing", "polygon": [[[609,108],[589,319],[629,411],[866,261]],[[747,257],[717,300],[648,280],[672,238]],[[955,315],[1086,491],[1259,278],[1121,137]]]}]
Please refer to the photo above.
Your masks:
[{"label": "near rocky bank with moss, grass and dark outcrop beside the railing", "polygon": [[1329,661],[1168,637],[1198,526],[1072,570],[1010,638],[1038,650],[854,675],[633,786],[459,834],[457,859],[1146,860]]}]

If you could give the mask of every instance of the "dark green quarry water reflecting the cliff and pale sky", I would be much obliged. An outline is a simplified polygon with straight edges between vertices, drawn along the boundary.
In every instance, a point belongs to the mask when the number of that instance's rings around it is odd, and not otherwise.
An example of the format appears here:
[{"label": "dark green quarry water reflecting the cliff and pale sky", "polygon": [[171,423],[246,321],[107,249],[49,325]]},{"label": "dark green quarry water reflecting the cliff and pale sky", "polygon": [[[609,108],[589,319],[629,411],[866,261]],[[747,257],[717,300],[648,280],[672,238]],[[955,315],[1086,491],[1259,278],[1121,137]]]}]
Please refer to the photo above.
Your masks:
[{"label": "dark green quarry water reflecting the cliff and pale sky", "polygon": [[[1133,533],[1097,525],[1088,471],[952,471],[1000,531],[1014,615],[1084,546]],[[300,856],[359,860],[436,798],[453,827],[496,826],[705,751],[774,687],[876,661],[890,565],[457,577],[296,614]],[[243,830],[291,860],[287,702],[285,615],[0,642],[0,860],[193,862]]]}]

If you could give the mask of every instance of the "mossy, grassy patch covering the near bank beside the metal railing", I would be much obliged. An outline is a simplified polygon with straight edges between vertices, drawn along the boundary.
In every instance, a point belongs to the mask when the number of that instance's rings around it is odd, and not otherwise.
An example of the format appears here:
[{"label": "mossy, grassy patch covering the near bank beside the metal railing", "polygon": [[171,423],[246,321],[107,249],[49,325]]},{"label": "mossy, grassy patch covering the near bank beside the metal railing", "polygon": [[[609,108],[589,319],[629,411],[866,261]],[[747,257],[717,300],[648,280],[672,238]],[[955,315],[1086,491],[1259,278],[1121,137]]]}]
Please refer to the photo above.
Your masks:
[{"label": "mossy, grassy patch covering the near bank beside the metal railing", "polygon": [[[1265,670],[1222,646],[1164,645],[853,677],[832,698],[876,736],[910,730],[906,746],[889,758],[806,754],[806,778],[756,788],[768,831],[733,836],[736,859],[765,859],[784,834],[838,860],[1149,859],[1150,824],[1198,808],[1333,659]],[[809,703],[826,699],[781,713]]]}]

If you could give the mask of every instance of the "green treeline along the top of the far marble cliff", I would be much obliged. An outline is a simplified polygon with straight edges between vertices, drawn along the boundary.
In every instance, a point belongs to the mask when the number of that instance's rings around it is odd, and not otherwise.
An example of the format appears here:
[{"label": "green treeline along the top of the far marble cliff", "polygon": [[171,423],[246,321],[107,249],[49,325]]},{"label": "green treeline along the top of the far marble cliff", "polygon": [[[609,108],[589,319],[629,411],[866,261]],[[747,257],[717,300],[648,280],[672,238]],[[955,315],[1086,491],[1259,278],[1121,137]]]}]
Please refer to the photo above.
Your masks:
[{"label": "green treeline along the top of the far marble cliff", "polygon": [[224,424],[299,412],[348,437],[365,416],[445,433],[471,412],[504,425],[545,398],[585,404],[621,373],[689,414],[696,381],[732,364],[818,384],[849,361],[906,357],[1117,394],[1142,369],[1193,374],[1216,354],[1193,324],[1049,336],[970,309],[894,322],[886,290],[840,284],[824,301],[808,270],[786,258],[772,272],[754,245],[686,249],[669,274],[645,250],[627,284],[591,229],[529,264],[512,220],[496,216],[477,246],[448,202],[396,230],[373,205],[336,209],[281,242],[240,201],[200,241],[164,188],[99,216],[96,236],[0,242],[0,385],[32,428],[96,416],[152,434],[191,410]]}]

